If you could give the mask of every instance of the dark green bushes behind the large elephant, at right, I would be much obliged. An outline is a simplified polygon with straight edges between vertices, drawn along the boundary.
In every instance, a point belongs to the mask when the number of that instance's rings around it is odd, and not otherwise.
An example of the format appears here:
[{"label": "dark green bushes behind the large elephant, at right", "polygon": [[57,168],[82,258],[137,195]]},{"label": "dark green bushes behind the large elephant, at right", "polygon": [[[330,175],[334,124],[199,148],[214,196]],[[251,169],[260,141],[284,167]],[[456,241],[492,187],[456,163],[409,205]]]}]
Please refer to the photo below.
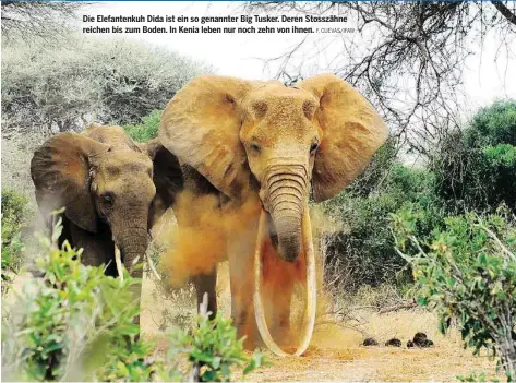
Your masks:
[{"label": "dark green bushes behind the large elephant, at right", "polygon": [[516,101],[481,109],[434,148],[428,164],[407,166],[387,143],[359,179],[325,204],[343,223],[326,258],[327,272],[341,278],[343,289],[411,279],[395,250],[392,213],[417,206],[416,235],[424,238],[451,214],[494,212],[501,204],[516,212]]}]

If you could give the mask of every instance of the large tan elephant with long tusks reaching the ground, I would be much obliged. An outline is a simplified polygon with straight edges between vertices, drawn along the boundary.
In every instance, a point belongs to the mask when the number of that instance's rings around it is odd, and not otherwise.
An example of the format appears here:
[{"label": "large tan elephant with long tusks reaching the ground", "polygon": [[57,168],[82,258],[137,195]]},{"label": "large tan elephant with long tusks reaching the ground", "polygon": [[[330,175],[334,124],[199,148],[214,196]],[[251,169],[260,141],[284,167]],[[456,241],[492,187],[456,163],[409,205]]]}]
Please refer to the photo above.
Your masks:
[{"label": "large tan elephant with long tusks reaching the ground", "polygon": [[[308,303],[295,354],[309,346],[316,306],[310,193],[316,202],[336,195],[386,137],[387,129],[370,103],[332,74],[293,87],[199,76],[168,104],[159,140],[182,164],[184,188],[194,195],[217,195],[223,216],[257,201],[252,219],[242,216],[237,227],[221,228],[231,314],[238,334],[247,335],[248,348],[260,333],[272,351],[286,355],[274,338],[288,333],[290,296],[299,279],[305,283]],[[203,225],[192,206],[175,210],[180,226]],[[197,297],[208,292],[214,313],[215,283],[216,267],[195,277]]]}]

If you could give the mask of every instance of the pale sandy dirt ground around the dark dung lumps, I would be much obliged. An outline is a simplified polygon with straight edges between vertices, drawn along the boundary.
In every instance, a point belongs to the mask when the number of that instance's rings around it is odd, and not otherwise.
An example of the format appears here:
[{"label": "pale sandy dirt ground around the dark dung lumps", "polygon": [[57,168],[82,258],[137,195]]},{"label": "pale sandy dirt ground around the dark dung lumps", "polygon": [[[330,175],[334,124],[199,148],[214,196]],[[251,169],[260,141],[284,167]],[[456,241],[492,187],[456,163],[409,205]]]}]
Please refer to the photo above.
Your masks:
[{"label": "pale sandy dirt ground around the dark dung lumps", "polygon": [[[227,273],[223,267],[221,274]],[[229,315],[229,291],[224,283],[218,286],[221,297],[221,311]],[[178,298],[181,308],[172,302],[163,302],[153,297],[152,282],[144,285],[142,326],[145,336],[158,340],[158,347],[165,351],[167,342],[158,328],[163,310],[184,316],[193,313],[193,301],[182,296]],[[187,292],[185,296],[189,296]],[[167,304],[169,304],[167,307]],[[247,381],[457,381],[457,375],[470,375],[483,372],[493,375],[495,361],[485,354],[475,357],[471,350],[463,349],[459,335],[452,332],[443,336],[437,332],[437,320],[434,314],[421,309],[404,310],[377,314],[371,310],[353,313],[357,321],[352,327],[345,323],[317,324],[312,345],[300,358],[279,358],[265,351],[271,366],[261,368],[247,376]],[[435,344],[433,348],[408,349],[407,340],[417,332],[424,332]],[[367,337],[374,337],[380,346],[361,346]],[[400,348],[386,347],[385,342],[397,337],[403,342]]]}]

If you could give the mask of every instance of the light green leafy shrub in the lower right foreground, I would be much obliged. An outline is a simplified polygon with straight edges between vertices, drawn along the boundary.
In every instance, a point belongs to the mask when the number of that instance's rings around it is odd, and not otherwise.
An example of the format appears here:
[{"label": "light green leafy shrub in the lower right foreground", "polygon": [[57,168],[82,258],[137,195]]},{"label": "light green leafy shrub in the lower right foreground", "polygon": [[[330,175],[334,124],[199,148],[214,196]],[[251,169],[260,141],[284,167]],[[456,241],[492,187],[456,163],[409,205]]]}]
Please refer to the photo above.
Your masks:
[{"label": "light green leafy shrub in the lower right foreground", "polygon": [[509,381],[516,379],[516,222],[496,214],[445,218],[445,228],[418,232],[415,206],[393,217],[399,254],[413,270],[418,302],[440,315],[445,333],[458,322],[465,346],[492,349]]}]

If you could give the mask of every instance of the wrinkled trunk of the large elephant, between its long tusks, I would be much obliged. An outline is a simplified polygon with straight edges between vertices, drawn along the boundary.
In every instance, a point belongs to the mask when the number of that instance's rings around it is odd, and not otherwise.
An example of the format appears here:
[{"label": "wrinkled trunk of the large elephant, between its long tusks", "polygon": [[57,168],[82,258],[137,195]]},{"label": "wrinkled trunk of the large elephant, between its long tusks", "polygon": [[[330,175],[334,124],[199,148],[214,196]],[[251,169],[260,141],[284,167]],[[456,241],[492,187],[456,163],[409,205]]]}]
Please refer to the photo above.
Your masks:
[{"label": "wrinkled trunk of the large elephant, between its long tusks", "polygon": [[308,200],[308,180],[303,166],[281,168],[268,173],[266,208],[271,213],[278,238],[278,254],[295,261],[301,252],[301,217]]}]

